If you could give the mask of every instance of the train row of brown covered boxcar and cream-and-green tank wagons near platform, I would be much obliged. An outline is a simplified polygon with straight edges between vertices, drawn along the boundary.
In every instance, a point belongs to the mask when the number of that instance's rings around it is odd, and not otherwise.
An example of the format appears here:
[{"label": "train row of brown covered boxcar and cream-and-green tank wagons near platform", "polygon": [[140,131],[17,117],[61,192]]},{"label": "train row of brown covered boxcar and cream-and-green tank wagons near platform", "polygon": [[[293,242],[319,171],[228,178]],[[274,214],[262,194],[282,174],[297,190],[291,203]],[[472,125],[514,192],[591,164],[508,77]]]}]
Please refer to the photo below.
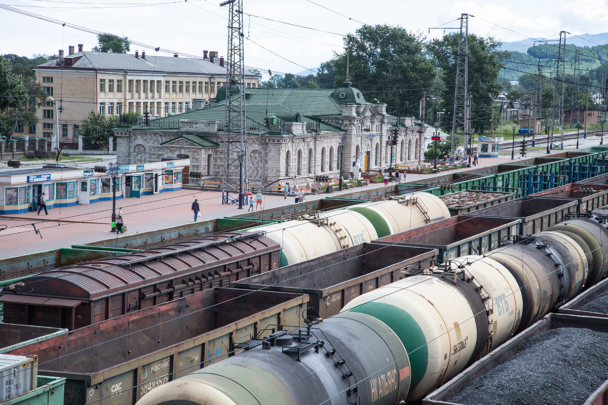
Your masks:
[{"label": "train row of brown covered boxcar and cream-and-green tank wagons near platform", "polygon": [[44,271],[2,289],[4,321],[74,330],[449,216],[420,192]]}]

